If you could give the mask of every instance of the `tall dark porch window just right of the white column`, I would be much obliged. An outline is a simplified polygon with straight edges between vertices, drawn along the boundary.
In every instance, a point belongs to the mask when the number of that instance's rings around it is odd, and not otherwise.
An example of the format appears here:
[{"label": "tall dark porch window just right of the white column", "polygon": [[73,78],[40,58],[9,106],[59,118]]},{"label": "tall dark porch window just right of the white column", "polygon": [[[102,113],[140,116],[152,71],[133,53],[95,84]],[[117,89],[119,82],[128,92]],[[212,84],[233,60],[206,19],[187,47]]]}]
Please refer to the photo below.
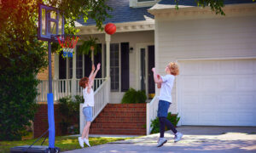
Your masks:
[{"label": "tall dark porch window just right of the white column", "polygon": [[111,91],[119,92],[119,43],[110,44]]}]

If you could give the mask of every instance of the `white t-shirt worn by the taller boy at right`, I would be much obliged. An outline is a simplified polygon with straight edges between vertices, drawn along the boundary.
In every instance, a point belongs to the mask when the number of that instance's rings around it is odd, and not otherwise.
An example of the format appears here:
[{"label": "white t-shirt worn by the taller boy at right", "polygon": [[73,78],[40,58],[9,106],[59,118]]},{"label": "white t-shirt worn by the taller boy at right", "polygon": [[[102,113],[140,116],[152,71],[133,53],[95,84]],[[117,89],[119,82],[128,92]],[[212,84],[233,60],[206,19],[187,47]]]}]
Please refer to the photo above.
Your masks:
[{"label": "white t-shirt worn by the taller boy at right", "polygon": [[175,77],[173,75],[161,76],[162,84],[160,88],[160,100],[165,100],[172,103],[172,87]]}]

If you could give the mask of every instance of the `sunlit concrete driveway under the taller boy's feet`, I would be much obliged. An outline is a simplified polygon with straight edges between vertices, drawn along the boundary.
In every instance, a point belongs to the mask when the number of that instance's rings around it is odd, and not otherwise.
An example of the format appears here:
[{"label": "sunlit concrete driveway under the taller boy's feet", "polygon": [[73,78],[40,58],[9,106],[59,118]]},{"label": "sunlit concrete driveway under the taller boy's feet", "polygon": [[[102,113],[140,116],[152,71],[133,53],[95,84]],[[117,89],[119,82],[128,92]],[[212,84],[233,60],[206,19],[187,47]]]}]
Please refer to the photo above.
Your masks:
[{"label": "sunlit concrete driveway under the taller boy's feet", "polygon": [[256,152],[256,127],[177,127],[183,139],[173,143],[171,131],[166,132],[168,142],[156,147],[158,134],[102,144],[90,148],[70,150],[73,153],[137,153],[137,152]]}]

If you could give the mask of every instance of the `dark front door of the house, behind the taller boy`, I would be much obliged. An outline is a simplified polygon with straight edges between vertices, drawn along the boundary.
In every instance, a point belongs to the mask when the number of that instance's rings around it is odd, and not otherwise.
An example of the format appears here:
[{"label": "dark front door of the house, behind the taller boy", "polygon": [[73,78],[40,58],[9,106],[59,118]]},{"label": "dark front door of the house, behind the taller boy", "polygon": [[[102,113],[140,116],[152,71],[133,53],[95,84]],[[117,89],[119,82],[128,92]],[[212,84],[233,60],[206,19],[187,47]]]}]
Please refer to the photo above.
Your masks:
[{"label": "dark front door of the house, behind the taller boy", "polygon": [[148,46],[148,94],[155,93],[155,83],[153,72],[151,71],[154,67],[154,45]]}]

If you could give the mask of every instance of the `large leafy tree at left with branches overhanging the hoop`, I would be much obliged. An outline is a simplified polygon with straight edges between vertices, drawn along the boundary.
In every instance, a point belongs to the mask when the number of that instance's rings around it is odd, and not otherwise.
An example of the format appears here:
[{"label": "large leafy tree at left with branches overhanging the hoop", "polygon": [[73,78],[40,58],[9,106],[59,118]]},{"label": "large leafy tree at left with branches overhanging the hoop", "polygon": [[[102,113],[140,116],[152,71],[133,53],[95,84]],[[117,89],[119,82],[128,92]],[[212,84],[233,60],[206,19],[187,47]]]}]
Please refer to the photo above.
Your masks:
[{"label": "large leafy tree at left with branches overhanging the hoop", "polygon": [[[0,0],[0,140],[21,139],[36,112],[38,71],[46,67],[47,45],[38,41],[38,4],[57,7],[65,31],[74,34],[78,18],[102,21],[109,17],[106,0]],[[71,5],[72,3],[72,5]]]}]

